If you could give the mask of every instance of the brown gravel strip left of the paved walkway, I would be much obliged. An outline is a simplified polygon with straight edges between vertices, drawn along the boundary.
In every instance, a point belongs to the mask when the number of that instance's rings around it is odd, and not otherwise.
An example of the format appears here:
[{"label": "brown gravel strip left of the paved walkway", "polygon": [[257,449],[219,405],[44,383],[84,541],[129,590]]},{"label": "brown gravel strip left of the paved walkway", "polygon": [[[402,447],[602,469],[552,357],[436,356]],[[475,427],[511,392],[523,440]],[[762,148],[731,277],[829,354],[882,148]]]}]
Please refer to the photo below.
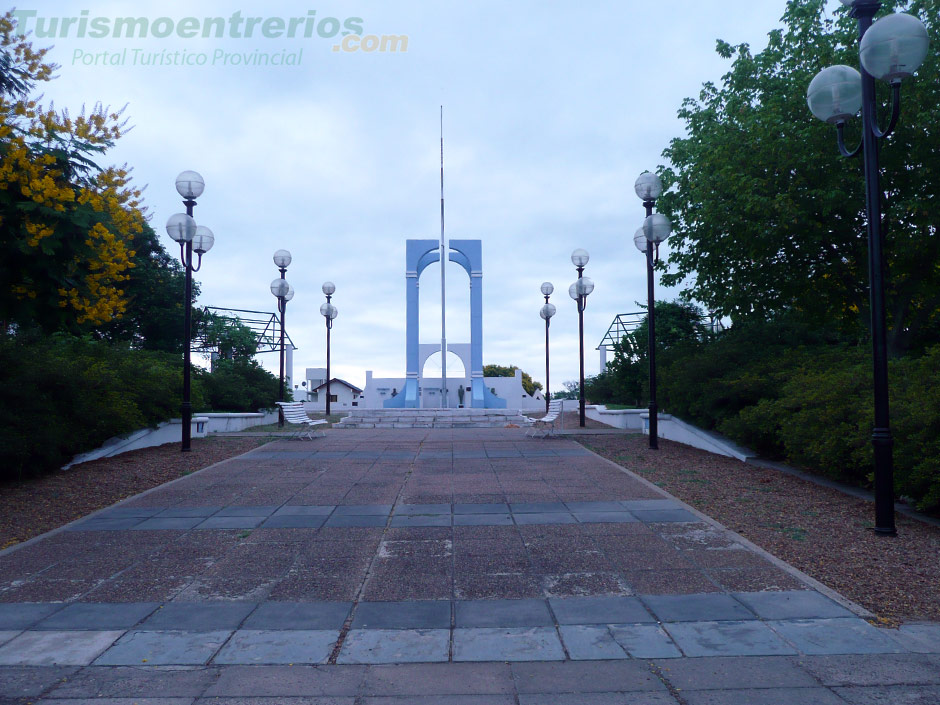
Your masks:
[{"label": "brown gravel strip left of the paved walkway", "polygon": [[266,443],[266,438],[194,438],[93,460],[51,475],[0,484],[0,549],[68,524],[125,497]]}]

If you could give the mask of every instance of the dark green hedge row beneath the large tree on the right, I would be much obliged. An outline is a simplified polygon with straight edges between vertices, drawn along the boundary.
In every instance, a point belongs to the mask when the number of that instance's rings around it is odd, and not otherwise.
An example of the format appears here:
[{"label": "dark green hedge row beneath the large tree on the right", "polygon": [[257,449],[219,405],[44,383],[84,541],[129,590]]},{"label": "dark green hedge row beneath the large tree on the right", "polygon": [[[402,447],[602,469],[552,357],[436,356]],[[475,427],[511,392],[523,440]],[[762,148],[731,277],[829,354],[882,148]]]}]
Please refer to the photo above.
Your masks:
[{"label": "dark green hedge row beneath the large tree on the right", "polygon": [[[672,351],[660,408],[764,456],[861,486],[873,481],[871,351],[721,337]],[[895,490],[940,508],[940,347],[889,366]]]}]

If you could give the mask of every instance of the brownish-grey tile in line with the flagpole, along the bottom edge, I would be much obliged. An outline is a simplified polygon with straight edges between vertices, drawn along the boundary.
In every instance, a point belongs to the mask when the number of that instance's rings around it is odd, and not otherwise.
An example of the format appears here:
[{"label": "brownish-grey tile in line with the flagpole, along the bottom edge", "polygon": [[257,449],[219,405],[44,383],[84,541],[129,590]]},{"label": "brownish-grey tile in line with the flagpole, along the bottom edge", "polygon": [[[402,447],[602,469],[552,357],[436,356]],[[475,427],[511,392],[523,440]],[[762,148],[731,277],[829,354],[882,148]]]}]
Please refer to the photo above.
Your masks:
[{"label": "brownish-grey tile in line with the flagpole, along the bottom edge", "polygon": [[424,663],[373,666],[364,696],[512,695],[512,672],[504,663]]}]

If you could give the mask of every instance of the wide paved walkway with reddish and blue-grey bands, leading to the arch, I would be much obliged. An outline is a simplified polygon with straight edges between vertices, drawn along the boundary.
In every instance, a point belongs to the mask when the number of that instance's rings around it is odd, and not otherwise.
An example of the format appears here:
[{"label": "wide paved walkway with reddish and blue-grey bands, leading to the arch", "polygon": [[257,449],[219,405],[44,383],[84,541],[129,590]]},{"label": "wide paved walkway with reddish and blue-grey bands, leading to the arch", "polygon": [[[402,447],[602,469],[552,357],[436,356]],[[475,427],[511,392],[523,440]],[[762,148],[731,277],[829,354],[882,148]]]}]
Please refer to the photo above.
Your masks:
[{"label": "wide paved walkway with reddish and blue-grey bands, leading to the arch", "polygon": [[0,705],[940,702],[813,586],[569,440],[331,431],[0,553]]}]

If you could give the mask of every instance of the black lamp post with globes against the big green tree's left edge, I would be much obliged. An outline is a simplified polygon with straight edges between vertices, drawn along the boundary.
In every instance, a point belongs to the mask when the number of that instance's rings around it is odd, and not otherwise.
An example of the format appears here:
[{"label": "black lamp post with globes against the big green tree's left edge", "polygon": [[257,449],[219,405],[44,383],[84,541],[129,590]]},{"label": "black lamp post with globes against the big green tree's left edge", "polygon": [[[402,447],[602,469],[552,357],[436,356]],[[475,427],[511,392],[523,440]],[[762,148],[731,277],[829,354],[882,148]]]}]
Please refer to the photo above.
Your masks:
[{"label": "black lamp post with globes against the big green tree's left edge", "polygon": [[653,293],[654,275],[653,265],[659,259],[659,243],[669,237],[672,229],[666,216],[653,215],[653,206],[656,199],[663,192],[662,181],[652,172],[640,174],[633,187],[636,195],[643,201],[646,208],[646,220],[643,221],[633,243],[640,252],[646,255],[646,323],[650,361],[650,448],[659,449],[659,407],[656,404],[656,298]]}]

